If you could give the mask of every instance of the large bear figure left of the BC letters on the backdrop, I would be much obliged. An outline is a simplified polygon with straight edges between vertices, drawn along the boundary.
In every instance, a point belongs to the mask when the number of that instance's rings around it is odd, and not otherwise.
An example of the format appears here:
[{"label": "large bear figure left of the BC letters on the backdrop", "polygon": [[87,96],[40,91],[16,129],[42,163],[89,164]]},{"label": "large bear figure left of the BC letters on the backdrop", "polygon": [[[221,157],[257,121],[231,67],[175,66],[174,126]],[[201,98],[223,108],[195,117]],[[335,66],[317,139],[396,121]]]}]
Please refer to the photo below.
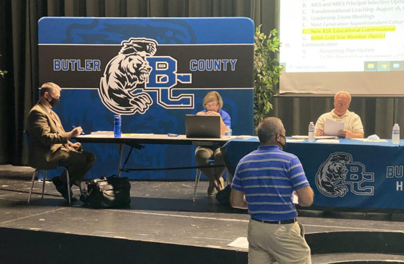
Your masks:
[{"label": "large bear figure left of the BC letters on the backdrop", "polygon": [[134,94],[134,91],[147,81],[152,71],[146,57],[156,53],[157,42],[131,37],[121,45],[118,55],[105,67],[98,92],[102,103],[116,114],[144,114],[153,100],[145,92]]}]

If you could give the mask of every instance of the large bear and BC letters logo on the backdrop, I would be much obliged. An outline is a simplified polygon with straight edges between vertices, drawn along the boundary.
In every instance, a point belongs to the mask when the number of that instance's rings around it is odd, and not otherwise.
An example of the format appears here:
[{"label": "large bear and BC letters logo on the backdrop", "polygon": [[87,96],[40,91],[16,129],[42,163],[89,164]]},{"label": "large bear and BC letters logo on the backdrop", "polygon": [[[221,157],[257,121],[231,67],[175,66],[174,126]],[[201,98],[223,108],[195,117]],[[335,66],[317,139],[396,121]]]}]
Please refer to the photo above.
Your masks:
[{"label": "large bear and BC letters logo on the backdrop", "polygon": [[[156,56],[154,39],[131,37],[105,67],[98,90],[102,103],[116,114],[145,114],[153,104],[145,91],[155,91],[157,104],[167,109],[193,108],[194,95],[172,95],[177,82],[191,83],[192,74],[176,73],[176,60]],[[140,86],[142,85],[142,87]]]}]

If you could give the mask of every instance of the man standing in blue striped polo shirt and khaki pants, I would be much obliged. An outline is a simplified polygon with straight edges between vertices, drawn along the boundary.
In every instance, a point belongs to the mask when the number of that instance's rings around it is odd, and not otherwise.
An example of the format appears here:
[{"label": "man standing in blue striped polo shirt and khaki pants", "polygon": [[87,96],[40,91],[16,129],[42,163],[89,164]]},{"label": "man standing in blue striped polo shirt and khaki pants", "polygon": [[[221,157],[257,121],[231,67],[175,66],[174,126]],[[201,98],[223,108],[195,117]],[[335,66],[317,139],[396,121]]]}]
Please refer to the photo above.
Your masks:
[{"label": "man standing in blue striped polo shirt and khaki pants", "polygon": [[293,192],[301,206],[313,204],[313,190],[300,160],[284,152],[284,125],[265,118],[258,125],[261,146],[240,160],[230,202],[248,209],[248,263],[311,263],[303,226],[296,221]]}]

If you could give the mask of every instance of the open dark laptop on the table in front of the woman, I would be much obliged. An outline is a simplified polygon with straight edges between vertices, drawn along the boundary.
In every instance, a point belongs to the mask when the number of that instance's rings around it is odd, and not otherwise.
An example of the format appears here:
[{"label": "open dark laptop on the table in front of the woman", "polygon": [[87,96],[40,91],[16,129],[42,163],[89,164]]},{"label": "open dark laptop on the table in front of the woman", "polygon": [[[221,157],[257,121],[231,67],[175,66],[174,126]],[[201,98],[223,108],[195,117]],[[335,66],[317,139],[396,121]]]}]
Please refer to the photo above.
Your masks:
[{"label": "open dark laptop on the table in front of the woman", "polygon": [[185,115],[185,136],[220,138],[220,116]]}]

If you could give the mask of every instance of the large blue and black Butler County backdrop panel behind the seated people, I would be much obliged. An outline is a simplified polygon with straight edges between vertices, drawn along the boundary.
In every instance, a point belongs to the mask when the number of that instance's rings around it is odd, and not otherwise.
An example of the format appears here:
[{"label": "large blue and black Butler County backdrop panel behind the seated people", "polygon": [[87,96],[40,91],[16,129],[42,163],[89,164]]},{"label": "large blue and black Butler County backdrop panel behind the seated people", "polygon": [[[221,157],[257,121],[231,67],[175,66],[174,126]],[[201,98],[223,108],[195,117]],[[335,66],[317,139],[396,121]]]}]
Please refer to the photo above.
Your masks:
[{"label": "large blue and black Butler County backdrop panel behind the seated people", "polygon": [[[254,24],[228,18],[44,17],[39,20],[39,82],[62,87],[55,111],[66,130],[185,134],[185,114],[218,91],[233,134],[253,133]],[[114,144],[84,143],[97,161],[89,177],[115,174]],[[196,146],[148,145],[130,168],[195,166]],[[129,148],[125,149],[127,152]],[[137,171],[134,179],[191,179],[194,170]]]}]

